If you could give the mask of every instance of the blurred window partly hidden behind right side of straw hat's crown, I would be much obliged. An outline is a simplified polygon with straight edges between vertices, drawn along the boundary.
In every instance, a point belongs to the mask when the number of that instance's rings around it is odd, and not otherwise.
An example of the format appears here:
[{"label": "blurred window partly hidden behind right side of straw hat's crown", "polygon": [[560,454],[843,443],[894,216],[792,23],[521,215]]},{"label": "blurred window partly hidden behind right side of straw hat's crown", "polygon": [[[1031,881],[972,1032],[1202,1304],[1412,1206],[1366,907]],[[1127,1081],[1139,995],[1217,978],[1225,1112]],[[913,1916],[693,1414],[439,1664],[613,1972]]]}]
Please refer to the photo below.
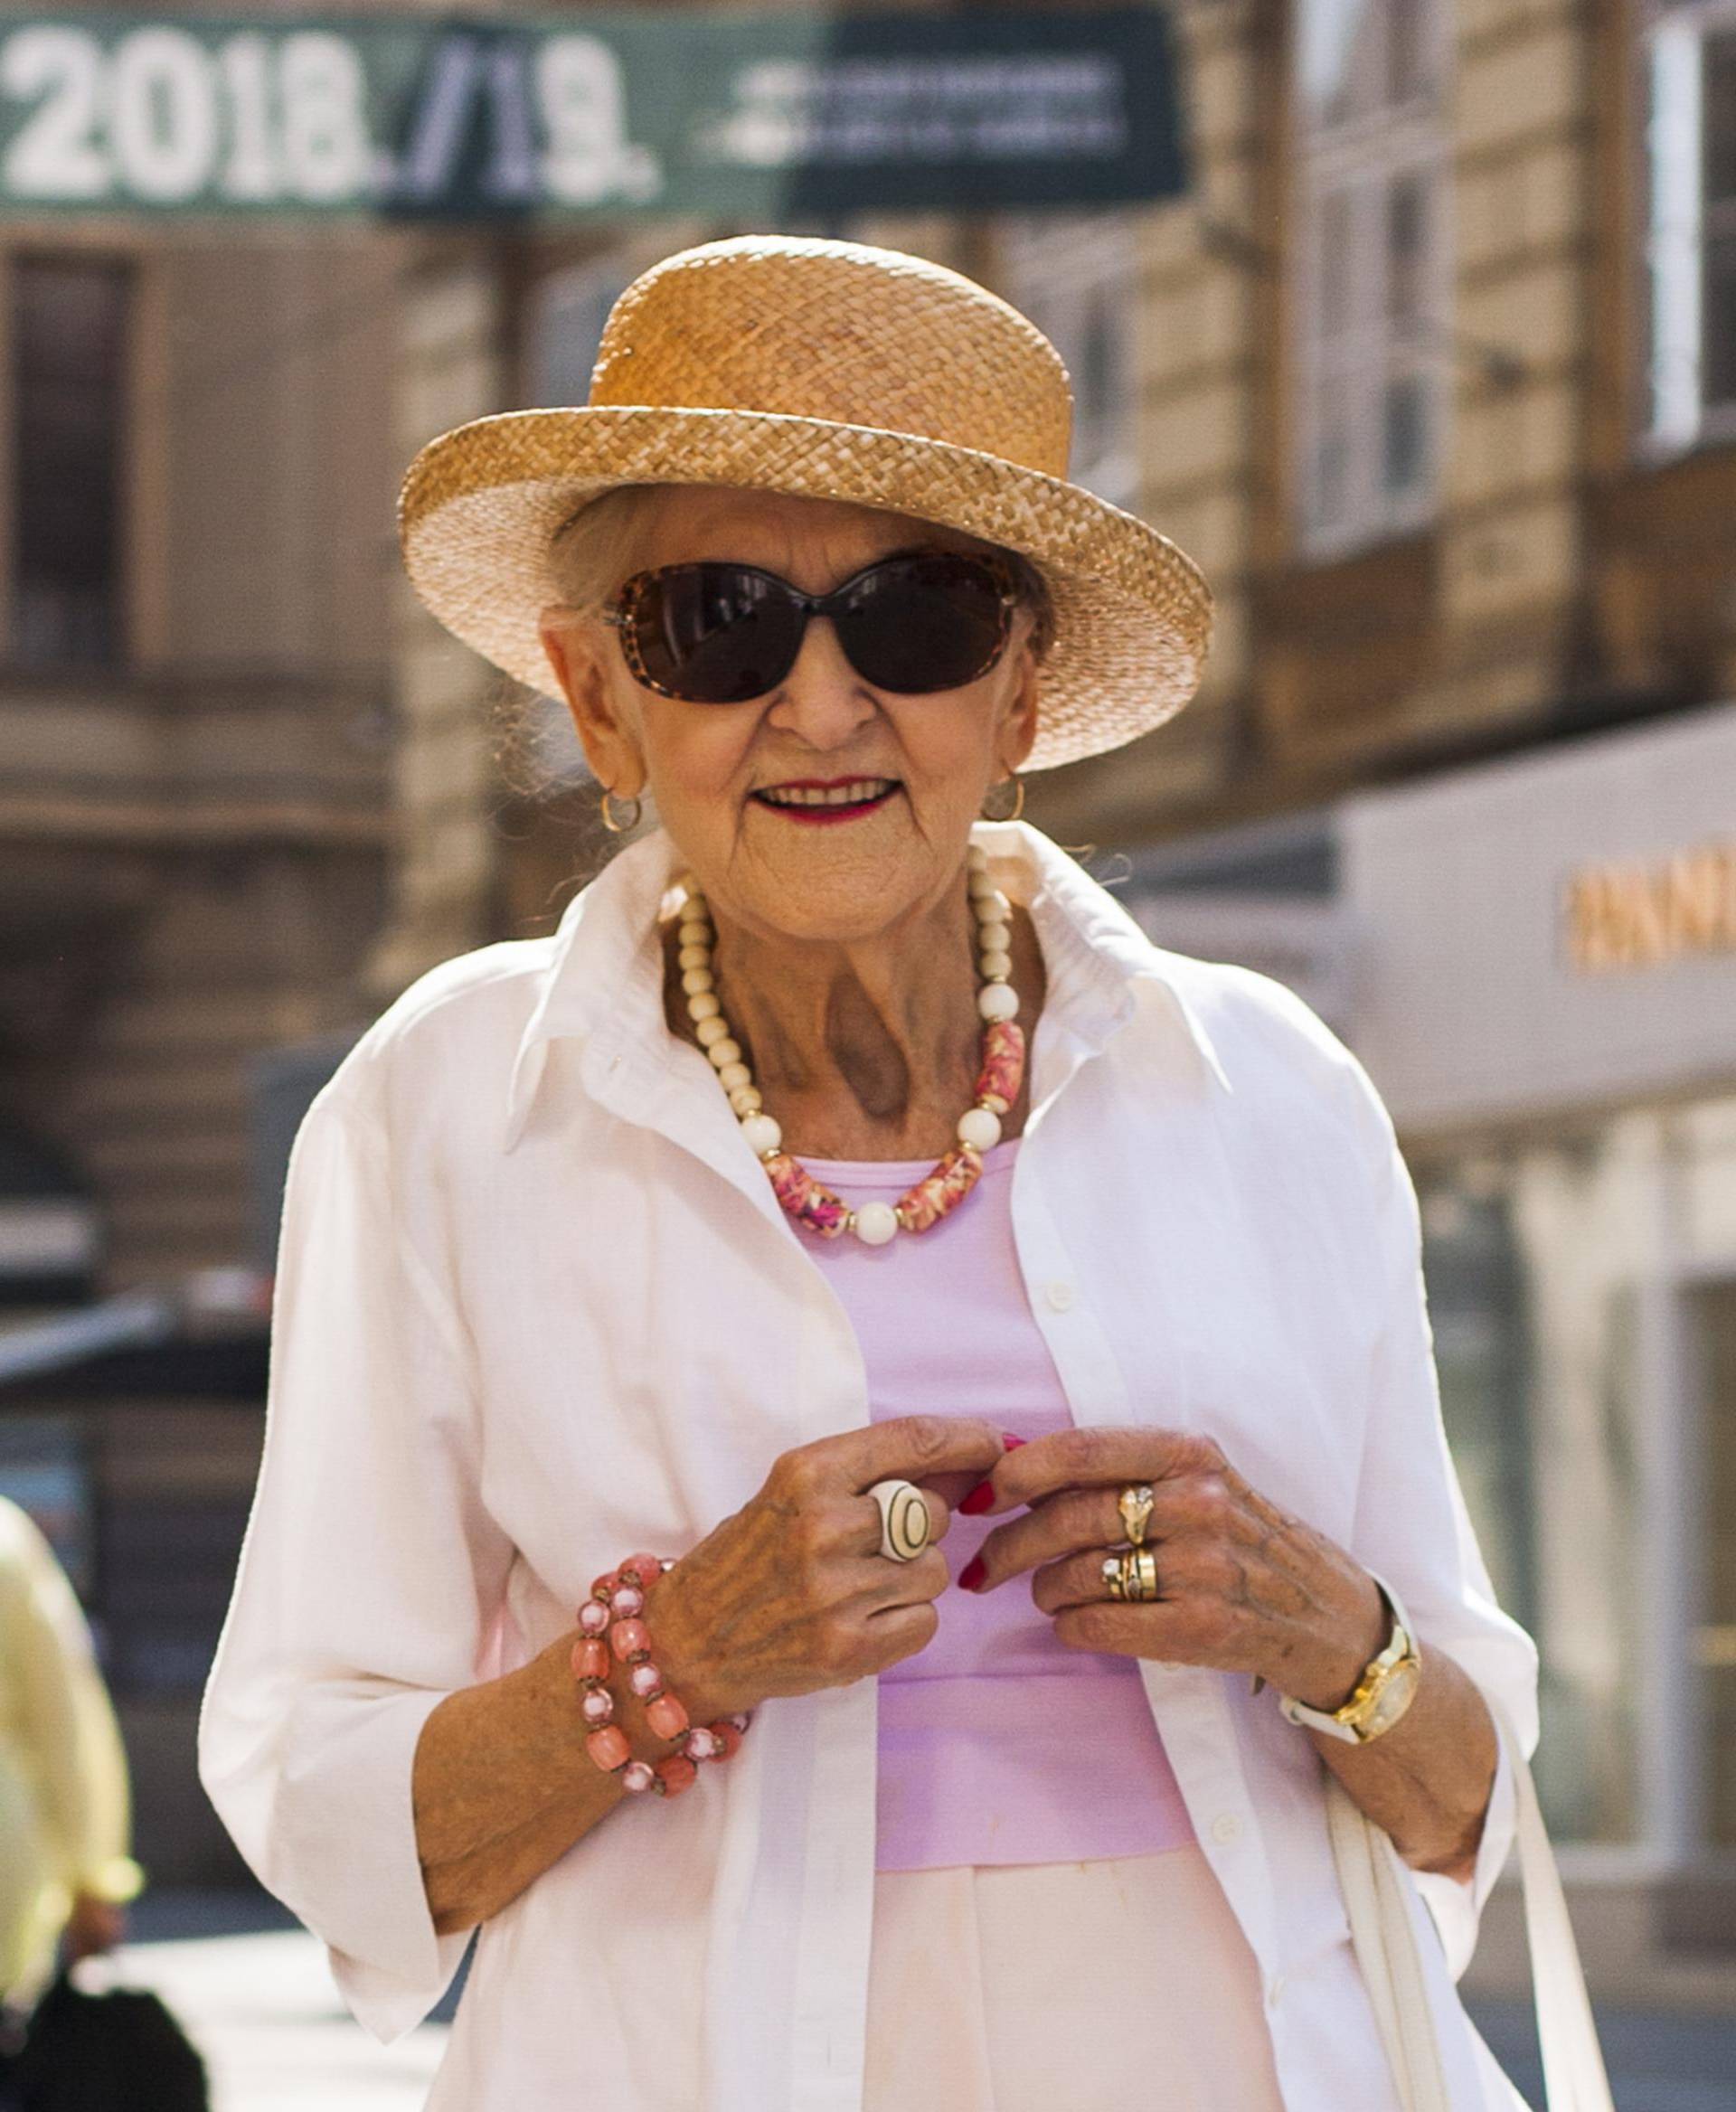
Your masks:
[{"label": "blurred window partly hidden behind right side of straw hat's crown", "polygon": [[1117,507],[1138,494],[1132,304],[1136,260],[1121,213],[999,222],[1001,294],[1060,353],[1073,382],[1071,477]]}]

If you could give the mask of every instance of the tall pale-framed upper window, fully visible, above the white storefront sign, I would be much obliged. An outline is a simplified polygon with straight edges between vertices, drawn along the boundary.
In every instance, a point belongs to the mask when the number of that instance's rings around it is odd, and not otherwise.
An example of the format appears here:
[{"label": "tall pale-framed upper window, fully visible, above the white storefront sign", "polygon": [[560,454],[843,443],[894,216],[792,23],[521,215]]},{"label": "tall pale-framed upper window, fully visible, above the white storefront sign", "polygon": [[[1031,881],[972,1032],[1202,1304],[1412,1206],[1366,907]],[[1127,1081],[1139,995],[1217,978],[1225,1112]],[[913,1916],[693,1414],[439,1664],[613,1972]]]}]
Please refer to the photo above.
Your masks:
[{"label": "tall pale-framed upper window, fully visible, above the white storefront sign", "polygon": [[1309,555],[1434,511],[1447,319],[1440,0],[1297,15],[1299,528]]}]

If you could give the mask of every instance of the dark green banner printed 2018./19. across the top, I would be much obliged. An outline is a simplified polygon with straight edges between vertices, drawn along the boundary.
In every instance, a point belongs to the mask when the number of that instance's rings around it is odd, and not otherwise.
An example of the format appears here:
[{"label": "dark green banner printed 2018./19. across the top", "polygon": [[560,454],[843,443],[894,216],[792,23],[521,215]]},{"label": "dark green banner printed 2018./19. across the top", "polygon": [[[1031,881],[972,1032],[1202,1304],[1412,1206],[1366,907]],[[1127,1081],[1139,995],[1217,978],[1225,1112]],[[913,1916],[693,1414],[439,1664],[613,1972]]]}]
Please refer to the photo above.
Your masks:
[{"label": "dark green banner printed 2018./19. across the top", "polygon": [[0,30],[8,218],[775,222],[1181,188],[1155,6],[520,21],[135,11]]}]

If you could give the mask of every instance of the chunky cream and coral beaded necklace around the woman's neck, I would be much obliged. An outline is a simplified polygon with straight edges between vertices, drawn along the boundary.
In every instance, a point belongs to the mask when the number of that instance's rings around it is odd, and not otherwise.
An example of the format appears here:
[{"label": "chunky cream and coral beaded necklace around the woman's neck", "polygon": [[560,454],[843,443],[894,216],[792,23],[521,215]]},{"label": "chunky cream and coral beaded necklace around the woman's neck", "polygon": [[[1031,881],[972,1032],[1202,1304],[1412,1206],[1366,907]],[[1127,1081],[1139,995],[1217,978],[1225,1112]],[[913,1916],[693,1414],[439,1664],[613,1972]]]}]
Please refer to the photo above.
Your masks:
[{"label": "chunky cream and coral beaded necklace around the woman's neck", "polygon": [[927,1231],[969,1195],[982,1176],[982,1153],[1001,1140],[1001,1115],[1009,1113],[1024,1081],[1024,1029],[1018,1026],[1018,991],[1012,986],[1012,927],[1005,895],[988,879],[988,853],[969,847],[969,904],[976,917],[976,965],[982,988],[976,1010],[982,1016],[982,1069],[976,1077],[976,1102],[959,1115],[959,1143],[906,1189],[895,1204],[866,1202],[851,1210],[841,1195],[824,1187],[784,1149],[784,1132],[765,1111],[754,1073],[741,1056],[741,1043],[722,1016],[712,974],[712,912],[699,881],[682,876],[680,972],[686,1012],[699,1045],[712,1058],[718,1083],[741,1124],[758,1162],[771,1178],[784,1210],[822,1240],[851,1231],[864,1246],[885,1246],[900,1231]]}]

